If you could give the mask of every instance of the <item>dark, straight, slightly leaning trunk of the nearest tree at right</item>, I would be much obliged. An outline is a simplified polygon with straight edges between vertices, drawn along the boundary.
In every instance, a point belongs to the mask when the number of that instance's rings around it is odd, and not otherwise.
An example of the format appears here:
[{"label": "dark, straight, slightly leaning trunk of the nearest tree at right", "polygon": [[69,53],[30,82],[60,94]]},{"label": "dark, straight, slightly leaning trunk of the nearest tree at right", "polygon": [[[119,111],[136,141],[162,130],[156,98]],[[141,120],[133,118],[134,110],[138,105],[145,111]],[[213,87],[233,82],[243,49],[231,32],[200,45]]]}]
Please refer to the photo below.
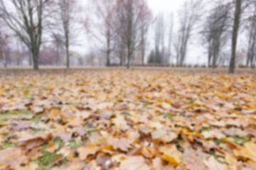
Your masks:
[{"label": "dark, straight, slightly leaning trunk of the nearest tree at right", "polygon": [[238,41],[238,30],[239,30],[239,25],[240,25],[241,5],[242,5],[242,0],[236,0],[233,35],[232,35],[232,52],[231,52],[230,67],[229,67],[230,74],[233,74],[235,72],[235,52],[236,52],[236,46],[237,46],[237,41]]}]

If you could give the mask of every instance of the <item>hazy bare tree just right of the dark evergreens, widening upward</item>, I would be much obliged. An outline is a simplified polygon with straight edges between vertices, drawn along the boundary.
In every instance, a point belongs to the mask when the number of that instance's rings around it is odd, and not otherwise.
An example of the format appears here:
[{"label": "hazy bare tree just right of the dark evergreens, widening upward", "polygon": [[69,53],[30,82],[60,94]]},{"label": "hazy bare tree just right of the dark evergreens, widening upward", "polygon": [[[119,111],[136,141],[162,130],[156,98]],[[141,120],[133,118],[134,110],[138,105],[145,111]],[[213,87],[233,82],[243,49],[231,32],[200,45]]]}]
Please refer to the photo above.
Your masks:
[{"label": "hazy bare tree just right of the dark evergreens, widening upward", "polygon": [[186,1],[179,13],[180,15],[180,29],[179,29],[179,36],[180,36],[180,56],[178,59],[178,63],[180,66],[183,66],[183,63],[186,59],[186,53],[188,50],[188,41],[191,38],[191,33],[193,28],[196,26],[199,18],[201,17],[201,8],[202,3],[198,0],[188,0]]}]

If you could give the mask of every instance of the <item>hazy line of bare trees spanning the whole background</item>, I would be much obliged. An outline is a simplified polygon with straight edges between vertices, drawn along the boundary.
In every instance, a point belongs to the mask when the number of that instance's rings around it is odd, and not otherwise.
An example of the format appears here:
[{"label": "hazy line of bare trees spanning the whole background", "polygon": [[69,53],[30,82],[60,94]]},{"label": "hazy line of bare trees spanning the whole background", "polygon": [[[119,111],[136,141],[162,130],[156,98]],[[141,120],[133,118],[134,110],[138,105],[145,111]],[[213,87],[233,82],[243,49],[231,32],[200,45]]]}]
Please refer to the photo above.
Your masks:
[{"label": "hazy line of bare trees spanning the whole background", "polygon": [[[256,64],[252,0],[187,0],[177,14],[156,16],[146,0],[0,0],[0,17],[4,66],[26,60],[34,69],[39,64],[193,67],[191,44],[203,46],[208,60],[195,67],[229,66],[233,73],[236,65]],[[70,50],[84,35],[87,54]],[[238,35],[246,41],[242,47]]]}]

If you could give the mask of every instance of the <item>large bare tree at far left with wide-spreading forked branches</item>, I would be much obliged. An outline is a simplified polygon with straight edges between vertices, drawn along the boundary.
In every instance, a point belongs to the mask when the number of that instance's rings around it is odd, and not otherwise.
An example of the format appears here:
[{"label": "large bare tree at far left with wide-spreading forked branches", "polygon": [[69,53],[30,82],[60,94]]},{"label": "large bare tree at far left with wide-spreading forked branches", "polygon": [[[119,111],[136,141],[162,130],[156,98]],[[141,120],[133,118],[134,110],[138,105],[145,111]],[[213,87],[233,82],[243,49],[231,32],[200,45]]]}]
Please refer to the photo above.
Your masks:
[{"label": "large bare tree at far left with wide-spreading forked branches", "polygon": [[0,0],[0,4],[1,18],[26,44],[33,57],[33,68],[38,69],[43,21],[48,16],[46,6],[50,4],[50,0]]}]

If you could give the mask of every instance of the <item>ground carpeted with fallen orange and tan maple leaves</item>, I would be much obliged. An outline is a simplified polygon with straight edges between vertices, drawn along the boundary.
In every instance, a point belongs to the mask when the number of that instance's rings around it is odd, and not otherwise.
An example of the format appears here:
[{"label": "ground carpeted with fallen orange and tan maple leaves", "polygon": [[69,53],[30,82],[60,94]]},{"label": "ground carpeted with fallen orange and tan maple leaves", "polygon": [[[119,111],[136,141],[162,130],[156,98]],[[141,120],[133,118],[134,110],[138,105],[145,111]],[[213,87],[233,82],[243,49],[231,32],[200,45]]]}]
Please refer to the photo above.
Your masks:
[{"label": "ground carpeted with fallen orange and tan maple leaves", "polygon": [[256,74],[0,77],[0,169],[256,169]]}]

